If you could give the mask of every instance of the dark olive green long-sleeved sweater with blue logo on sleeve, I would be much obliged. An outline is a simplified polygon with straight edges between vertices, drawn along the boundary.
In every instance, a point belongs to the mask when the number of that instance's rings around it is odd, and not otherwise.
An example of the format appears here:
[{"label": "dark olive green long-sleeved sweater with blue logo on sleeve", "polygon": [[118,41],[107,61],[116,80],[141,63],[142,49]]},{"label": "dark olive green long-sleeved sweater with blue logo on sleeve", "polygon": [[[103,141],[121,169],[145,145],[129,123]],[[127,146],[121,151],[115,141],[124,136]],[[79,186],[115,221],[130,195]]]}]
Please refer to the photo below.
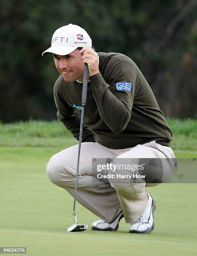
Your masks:
[{"label": "dark olive green long-sleeved sweater with blue logo on sleeve", "polygon": [[[82,141],[115,149],[153,140],[170,146],[171,129],[137,65],[123,54],[98,54],[100,73],[88,82]],[[60,75],[54,99],[58,119],[79,139],[82,83]]]}]

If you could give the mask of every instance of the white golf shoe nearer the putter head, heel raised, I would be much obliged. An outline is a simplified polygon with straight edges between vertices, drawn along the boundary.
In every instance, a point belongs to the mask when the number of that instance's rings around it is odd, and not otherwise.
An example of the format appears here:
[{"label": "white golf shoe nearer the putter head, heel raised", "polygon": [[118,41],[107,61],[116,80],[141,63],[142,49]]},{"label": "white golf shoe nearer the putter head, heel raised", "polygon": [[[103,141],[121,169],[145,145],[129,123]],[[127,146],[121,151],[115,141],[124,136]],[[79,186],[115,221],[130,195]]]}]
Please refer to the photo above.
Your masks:
[{"label": "white golf shoe nearer the putter head, heel raised", "polygon": [[97,220],[92,223],[92,230],[116,231],[118,230],[119,222],[123,217],[124,217],[123,211],[121,210],[111,222],[105,222],[104,220]]}]

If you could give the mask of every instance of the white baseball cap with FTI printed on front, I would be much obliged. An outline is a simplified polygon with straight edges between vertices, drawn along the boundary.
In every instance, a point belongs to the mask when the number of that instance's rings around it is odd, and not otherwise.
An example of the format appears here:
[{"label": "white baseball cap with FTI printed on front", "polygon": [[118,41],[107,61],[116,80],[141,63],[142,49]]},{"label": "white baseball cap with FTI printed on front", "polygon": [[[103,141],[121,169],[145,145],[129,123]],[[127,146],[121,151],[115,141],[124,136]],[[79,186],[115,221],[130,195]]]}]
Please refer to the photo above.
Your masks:
[{"label": "white baseball cap with FTI printed on front", "polygon": [[67,55],[78,47],[92,47],[92,40],[88,33],[81,27],[73,24],[58,28],[51,40],[51,47],[42,53],[49,52],[58,55]]}]

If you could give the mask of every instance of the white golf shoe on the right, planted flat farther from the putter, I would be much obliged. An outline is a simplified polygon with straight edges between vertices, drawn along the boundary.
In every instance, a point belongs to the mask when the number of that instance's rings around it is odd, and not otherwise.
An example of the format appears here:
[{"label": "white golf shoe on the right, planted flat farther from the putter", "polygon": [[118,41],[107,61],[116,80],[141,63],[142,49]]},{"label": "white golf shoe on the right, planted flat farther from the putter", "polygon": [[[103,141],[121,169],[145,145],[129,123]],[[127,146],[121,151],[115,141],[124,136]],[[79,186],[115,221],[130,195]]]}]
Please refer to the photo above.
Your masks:
[{"label": "white golf shoe on the right, planted flat farther from the putter", "polygon": [[148,195],[148,204],[143,215],[134,223],[131,223],[129,233],[148,234],[154,230],[154,211],[156,203],[153,197]]}]

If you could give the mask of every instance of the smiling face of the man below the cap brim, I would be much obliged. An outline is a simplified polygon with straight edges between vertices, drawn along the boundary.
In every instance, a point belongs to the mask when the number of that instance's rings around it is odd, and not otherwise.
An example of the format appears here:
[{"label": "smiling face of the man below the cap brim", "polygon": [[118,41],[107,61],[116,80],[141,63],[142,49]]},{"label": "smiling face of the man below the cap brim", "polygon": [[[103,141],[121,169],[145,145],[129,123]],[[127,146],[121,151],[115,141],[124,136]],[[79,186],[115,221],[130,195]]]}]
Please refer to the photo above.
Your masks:
[{"label": "smiling face of the man below the cap brim", "polygon": [[56,69],[66,82],[83,81],[84,64],[79,49],[68,55],[53,54]]}]

